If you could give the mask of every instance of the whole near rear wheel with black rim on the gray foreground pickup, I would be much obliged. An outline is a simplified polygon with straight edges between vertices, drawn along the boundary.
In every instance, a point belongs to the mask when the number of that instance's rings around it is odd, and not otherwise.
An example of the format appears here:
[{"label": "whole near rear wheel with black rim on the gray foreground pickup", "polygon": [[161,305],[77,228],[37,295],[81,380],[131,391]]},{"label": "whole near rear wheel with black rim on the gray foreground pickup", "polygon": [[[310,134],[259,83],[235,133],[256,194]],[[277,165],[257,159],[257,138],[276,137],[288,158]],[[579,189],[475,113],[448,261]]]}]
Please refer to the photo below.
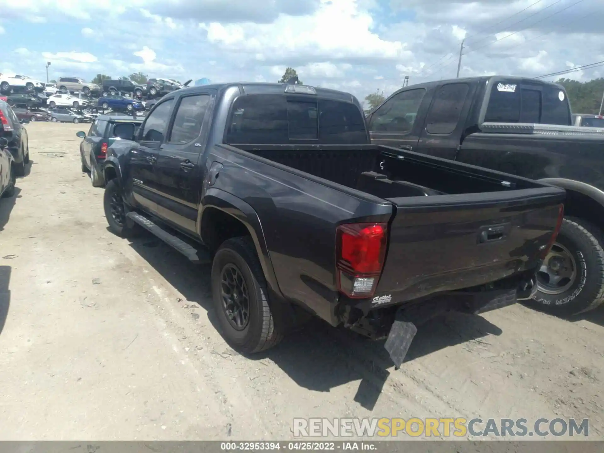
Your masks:
[{"label": "whole near rear wheel with black rim on the gray foreground pickup", "polygon": [[268,303],[262,266],[249,237],[220,245],[212,262],[212,295],[226,342],[243,353],[256,353],[283,338]]}]

